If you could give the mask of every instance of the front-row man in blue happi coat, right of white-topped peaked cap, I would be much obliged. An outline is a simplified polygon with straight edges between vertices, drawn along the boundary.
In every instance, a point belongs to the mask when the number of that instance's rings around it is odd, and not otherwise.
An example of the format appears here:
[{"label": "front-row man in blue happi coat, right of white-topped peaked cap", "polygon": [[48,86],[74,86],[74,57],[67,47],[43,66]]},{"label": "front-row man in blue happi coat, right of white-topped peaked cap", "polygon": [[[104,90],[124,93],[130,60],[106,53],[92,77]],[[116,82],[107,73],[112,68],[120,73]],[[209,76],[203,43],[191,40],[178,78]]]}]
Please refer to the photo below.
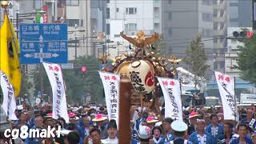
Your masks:
[{"label": "front-row man in blue happi coat, right of white-topped peaked cap", "polygon": [[216,144],[211,134],[205,132],[206,123],[204,119],[198,119],[196,131],[190,134],[189,141],[193,144]]}]

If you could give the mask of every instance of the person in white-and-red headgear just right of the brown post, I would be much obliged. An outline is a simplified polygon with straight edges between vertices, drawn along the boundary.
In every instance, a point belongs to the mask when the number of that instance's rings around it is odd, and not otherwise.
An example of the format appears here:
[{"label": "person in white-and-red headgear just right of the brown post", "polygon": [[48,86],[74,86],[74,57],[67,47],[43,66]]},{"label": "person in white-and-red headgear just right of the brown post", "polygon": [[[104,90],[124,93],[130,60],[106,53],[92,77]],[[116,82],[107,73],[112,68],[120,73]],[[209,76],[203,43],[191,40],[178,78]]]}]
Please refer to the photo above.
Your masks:
[{"label": "person in white-and-red headgear just right of the brown post", "polygon": [[150,142],[151,129],[149,126],[138,126],[138,139],[140,144],[148,144]]}]

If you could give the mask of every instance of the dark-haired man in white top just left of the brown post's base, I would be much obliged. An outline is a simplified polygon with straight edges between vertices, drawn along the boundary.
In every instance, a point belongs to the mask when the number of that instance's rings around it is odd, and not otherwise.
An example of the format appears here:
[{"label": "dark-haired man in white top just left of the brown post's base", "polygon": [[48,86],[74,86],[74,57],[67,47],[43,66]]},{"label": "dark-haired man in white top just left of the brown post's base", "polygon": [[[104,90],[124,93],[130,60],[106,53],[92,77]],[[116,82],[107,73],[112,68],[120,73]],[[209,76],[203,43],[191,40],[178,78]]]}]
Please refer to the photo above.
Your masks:
[{"label": "dark-haired man in white top just left of the brown post's base", "polygon": [[116,144],[118,143],[118,138],[116,137],[118,133],[118,126],[114,119],[111,119],[107,124],[107,134],[108,138],[103,139],[103,144]]}]

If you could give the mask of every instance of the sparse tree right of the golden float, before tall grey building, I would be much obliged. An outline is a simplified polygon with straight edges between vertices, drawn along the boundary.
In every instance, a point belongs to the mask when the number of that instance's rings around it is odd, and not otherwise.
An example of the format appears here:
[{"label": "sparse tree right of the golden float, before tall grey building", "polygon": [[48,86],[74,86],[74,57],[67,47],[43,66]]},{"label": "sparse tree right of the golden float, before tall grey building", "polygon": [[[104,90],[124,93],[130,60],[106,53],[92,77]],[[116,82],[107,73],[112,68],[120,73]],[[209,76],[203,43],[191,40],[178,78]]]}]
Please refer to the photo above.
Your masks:
[{"label": "sparse tree right of the golden float, before tall grey building", "polygon": [[184,62],[191,66],[191,72],[195,75],[195,86],[200,85],[200,78],[204,77],[206,70],[209,68],[209,65],[206,65],[206,61],[202,38],[198,35],[197,38],[190,42],[190,46],[186,50],[186,58],[184,58]]}]

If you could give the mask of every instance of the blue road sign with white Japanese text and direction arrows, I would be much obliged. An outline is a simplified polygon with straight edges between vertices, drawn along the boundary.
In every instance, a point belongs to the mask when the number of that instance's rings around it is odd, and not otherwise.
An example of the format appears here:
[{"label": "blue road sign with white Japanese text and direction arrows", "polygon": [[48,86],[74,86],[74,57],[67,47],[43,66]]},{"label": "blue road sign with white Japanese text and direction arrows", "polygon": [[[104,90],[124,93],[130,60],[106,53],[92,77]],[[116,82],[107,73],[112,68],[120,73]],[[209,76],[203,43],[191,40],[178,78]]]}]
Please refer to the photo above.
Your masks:
[{"label": "blue road sign with white Japanese text and direction arrows", "polygon": [[19,30],[22,64],[68,62],[66,24],[22,24]]}]

